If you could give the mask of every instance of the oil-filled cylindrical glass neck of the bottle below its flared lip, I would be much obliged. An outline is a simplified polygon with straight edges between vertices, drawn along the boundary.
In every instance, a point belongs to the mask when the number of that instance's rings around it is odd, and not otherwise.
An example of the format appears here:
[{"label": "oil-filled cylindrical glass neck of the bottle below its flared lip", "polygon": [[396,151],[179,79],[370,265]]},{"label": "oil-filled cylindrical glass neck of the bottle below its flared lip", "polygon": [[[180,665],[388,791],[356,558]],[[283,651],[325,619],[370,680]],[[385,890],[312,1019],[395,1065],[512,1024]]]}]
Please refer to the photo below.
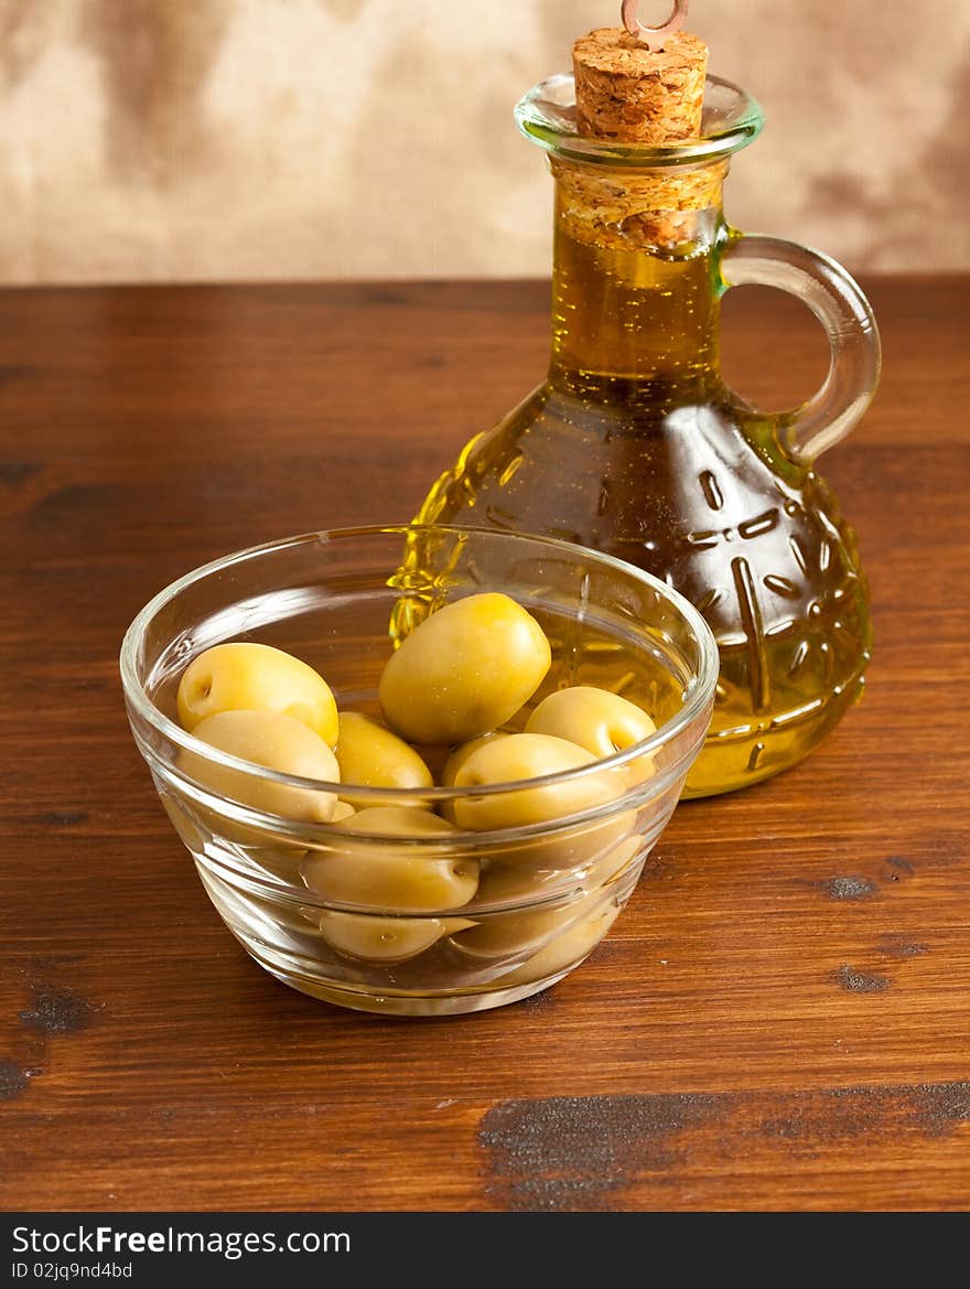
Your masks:
[{"label": "oil-filled cylindrical glass neck of the bottle below its flared lip", "polygon": [[553,174],[553,382],[703,397],[719,380],[727,164],[617,175],[554,160]]}]

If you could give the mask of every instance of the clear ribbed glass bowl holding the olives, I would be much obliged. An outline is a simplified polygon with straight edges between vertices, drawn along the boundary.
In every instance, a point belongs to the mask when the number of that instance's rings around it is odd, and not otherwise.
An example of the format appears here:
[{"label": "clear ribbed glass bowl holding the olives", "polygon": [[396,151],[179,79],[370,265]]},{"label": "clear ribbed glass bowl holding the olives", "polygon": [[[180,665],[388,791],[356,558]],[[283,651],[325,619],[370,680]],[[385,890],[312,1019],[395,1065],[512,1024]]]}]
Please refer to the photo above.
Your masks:
[{"label": "clear ribbed glass bowl holding the olives", "polygon": [[[216,751],[175,721],[179,675],[213,644],[259,641],[314,666],[341,710],[379,717],[377,683],[394,635],[486,590],[522,603],[553,650],[549,674],[510,727],[520,728],[532,706],[569,684],[614,690],[652,714],[656,735],[634,748],[524,781],[589,803],[584,780],[609,773],[622,781],[614,797],[547,824],[388,837],[264,813],[246,804],[249,790],[228,797],[206,786],[200,767],[213,763],[236,770],[233,784],[331,790],[356,807],[414,806],[414,789],[322,784]],[[247,953],[286,985],[330,1003],[428,1016],[527,998],[599,944],[701,750],[718,650],[688,601],[611,556],[495,530],[398,525],[289,538],[187,574],[135,617],[121,677],[131,732],[162,804]],[[433,770],[448,754],[421,751]],[[524,782],[477,788],[474,797],[501,804]],[[471,794],[421,790],[444,815],[462,795]],[[388,906],[388,898],[375,902],[332,883],[326,897],[314,889],[321,866],[349,871],[348,862],[393,865],[419,893]]]}]

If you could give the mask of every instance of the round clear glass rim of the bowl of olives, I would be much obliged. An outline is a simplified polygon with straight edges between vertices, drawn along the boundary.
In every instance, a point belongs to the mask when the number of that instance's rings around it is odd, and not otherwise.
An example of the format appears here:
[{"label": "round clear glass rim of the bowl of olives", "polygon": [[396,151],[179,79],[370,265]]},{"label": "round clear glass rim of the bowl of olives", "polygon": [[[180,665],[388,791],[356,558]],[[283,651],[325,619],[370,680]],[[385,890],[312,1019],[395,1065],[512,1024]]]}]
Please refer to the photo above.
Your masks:
[{"label": "round clear glass rim of the bowl of olives", "polygon": [[[183,590],[195,583],[202,581],[214,574],[222,572],[233,565],[245,563],[247,559],[255,559],[260,556],[271,554],[277,550],[285,550],[291,547],[309,545],[309,544],[328,544],[332,541],[349,541],[362,538],[375,538],[375,536],[401,536],[402,540],[411,534],[456,534],[456,535],[480,535],[487,536],[490,540],[497,541],[528,541],[533,545],[544,545],[558,554],[568,554],[572,557],[582,556],[587,561],[593,561],[604,568],[613,568],[618,572],[623,572],[627,576],[634,576],[638,581],[644,583],[651,586],[657,594],[666,599],[670,605],[676,608],[681,617],[685,619],[690,630],[693,632],[698,651],[701,655],[701,666],[697,669],[696,674],[690,682],[690,692],[684,705],[679,712],[660,726],[656,733],[651,735],[649,739],[644,739],[642,742],[634,744],[631,748],[623,751],[614,753],[612,757],[604,757],[599,761],[591,761],[585,766],[580,766],[576,770],[560,771],[554,775],[545,775],[536,779],[522,779],[510,780],[502,784],[487,784],[477,786],[474,794],[469,793],[466,788],[426,788],[421,789],[420,793],[414,788],[368,788],[366,785],[353,785],[353,784],[332,784],[321,779],[304,779],[298,775],[286,775],[280,771],[268,770],[265,766],[258,766],[254,762],[242,761],[238,757],[232,757],[228,753],[220,751],[211,745],[202,742],[200,739],[195,739],[191,733],[176,724],[169,717],[165,715],[147,696],[144,688],[142,687],[138,673],[135,659],[148,628],[148,624],[155,617],[155,615],[175,599]],[[241,771],[247,775],[256,776],[259,779],[267,780],[273,784],[280,784],[286,788],[296,788],[310,791],[330,791],[335,794],[344,794],[353,797],[353,789],[361,797],[367,797],[372,803],[380,802],[386,806],[395,806],[403,800],[414,802],[415,795],[428,799],[433,804],[441,802],[453,802],[462,797],[490,797],[501,793],[510,793],[522,790],[524,788],[536,786],[553,786],[563,782],[578,781],[587,775],[598,773],[602,770],[613,770],[616,767],[623,766],[630,761],[635,761],[643,755],[651,755],[658,749],[663,748],[679,733],[681,733],[692,722],[694,722],[698,715],[703,712],[705,706],[708,706],[714,697],[714,690],[718,683],[719,675],[719,655],[718,644],[714,634],[701,616],[697,608],[681,596],[678,590],[670,586],[666,581],[660,577],[654,577],[652,574],[644,572],[635,565],[627,563],[625,559],[617,559],[614,556],[605,554],[602,550],[594,550],[589,547],[581,547],[576,543],[562,541],[555,538],[536,536],[531,532],[504,532],[500,528],[483,528],[475,526],[459,526],[459,525],[424,525],[424,523],[390,523],[390,525],[367,525],[358,527],[343,527],[343,528],[323,528],[318,532],[303,532],[290,538],[280,538],[274,541],[267,541],[255,547],[246,547],[241,550],[234,550],[227,556],[222,556],[218,559],[213,559],[209,563],[200,565],[197,568],[192,568],[189,572],[183,574],[175,581],[169,583],[167,586],[162,588],[148,603],[135,615],[130,626],[125,632],[125,637],[121,642],[120,654],[120,668],[121,668],[121,682],[125,696],[135,712],[148,726],[151,726],[157,733],[162,735],[170,742],[182,748],[184,751],[191,751],[193,755],[200,757],[204,762],[211,761],[219,766],[224,766],[229,770]],[[672,777],[671,771],[678,767],[670,767],[665,773],[656,776],[657,780],[666,781]],[[648,780],[649,784],[654,784],[654,780]],[[657,784],[662,786],[662,782]],[[348,791],[349,790],[349,791]],[[218,797],[219,794],[211,793],[206,789],[209,795]],[[623,803],[629,804],[626,798],[629,795],[636,794],[639,789],[632,789],[630,794],[625,794],[616,800],[611,800],[608,804],[613,808]],[[653,793],[651,794],[653,795]],[[225,798],[227,802],[234,802],[233,798]],[[246,808],[252,819],[262,816],[262,812]],[[600,815],[603,807],[584,812],[582,816],[569,816],[568,820],[563,822],[576,824],[577,819],[595,819]],[[278,816],[265,815],[265,819],[278,819]],[[287,821],[292,822],[292,821]],[[558,824],[559,821],[556,821]],[[551,825],[535,825],[533,829],[520,829],[517,830],[519,835],[526,835],[532,830],[549,830]],[[313,825],[314,833],[326,831],[327,825]],[[511,831],[511,830],[510,830]],[[366,838],[370,834],[356,833],[356,837]],[[434,835],[434,837],[420,837],[416,840],[434,846],[435,843],[441,846],[442,843],[455,844],[460,837],[477,835],[483,837],[486,834],[465,834],[465,833],[448,833],[447,837]],[[488,834],[493,835],[493,834]],[[403,840],[403,837],[388,838],[385,834],[375,834],[375,839],[381,840]]]}]

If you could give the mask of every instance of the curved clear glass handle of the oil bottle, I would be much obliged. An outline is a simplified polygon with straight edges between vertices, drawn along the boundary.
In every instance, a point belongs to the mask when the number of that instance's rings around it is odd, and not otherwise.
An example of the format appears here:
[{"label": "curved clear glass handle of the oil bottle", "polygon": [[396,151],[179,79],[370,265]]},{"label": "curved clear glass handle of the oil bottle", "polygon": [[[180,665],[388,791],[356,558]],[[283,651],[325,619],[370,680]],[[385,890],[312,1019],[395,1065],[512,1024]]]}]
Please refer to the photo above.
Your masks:
[{"label": "curved clear glass handle of the oil bottle", "polygon": [[876,393],[881,347],[872,305],[833,259],[764,233],[732,235],[721,253],[721,281],[724,290],[777,286],[808,304],[826,329],[831,360],[822,388],[777,418],[786,449],[813,461],[845,438]]}]

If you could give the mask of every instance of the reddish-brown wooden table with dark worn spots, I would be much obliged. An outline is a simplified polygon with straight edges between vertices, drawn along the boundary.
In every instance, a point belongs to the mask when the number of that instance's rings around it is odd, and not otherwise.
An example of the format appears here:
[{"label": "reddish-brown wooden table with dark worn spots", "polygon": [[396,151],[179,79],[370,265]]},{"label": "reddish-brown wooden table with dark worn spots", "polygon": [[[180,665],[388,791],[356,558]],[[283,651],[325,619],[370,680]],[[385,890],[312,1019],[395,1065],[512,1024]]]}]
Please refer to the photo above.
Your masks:
[{"label": "reddish-brown wooden table with dark worn spots", "polygon": [[[202,561],[407,518],[540,378],[547,289],[0,294],[0,1205],[970,1207],[970,282],[866,285],[881,393],[823,467],[872,583],[864,703],[787,775],[683,804],[573,976],[439,1021],[243,955],[117,651]],[[734,296],[734,383],[804,397],[810,320]]]}]

